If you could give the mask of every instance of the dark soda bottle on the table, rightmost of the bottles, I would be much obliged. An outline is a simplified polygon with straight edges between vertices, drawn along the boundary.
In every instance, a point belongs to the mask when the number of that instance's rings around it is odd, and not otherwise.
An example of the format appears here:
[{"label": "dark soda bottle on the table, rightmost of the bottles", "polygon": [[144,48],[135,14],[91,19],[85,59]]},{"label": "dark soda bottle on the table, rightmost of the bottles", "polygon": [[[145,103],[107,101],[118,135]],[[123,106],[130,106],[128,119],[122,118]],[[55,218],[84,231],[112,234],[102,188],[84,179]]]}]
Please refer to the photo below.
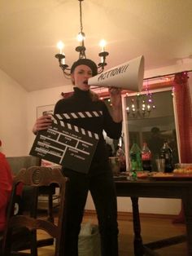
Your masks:
[{"label": "dark soda bottle on the table, rightmost of the bottles", "polygon": [[164,158],[164,172],[170,173],[174,169],[172,161],[172,148],[169,147],[168,142],[165,141],[163,147],[160,150],[160,156]]}]

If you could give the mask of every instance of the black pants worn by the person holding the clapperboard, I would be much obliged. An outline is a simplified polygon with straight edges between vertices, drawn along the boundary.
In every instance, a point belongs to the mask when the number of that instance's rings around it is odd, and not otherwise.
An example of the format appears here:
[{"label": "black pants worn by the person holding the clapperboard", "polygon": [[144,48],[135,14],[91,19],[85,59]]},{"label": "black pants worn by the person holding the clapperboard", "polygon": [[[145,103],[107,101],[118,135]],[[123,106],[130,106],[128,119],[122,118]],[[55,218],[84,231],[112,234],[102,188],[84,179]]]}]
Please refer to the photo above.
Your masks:
[{"label": "black pants worn by the person holding the clapperboard", "polygon": [[118,256],[116,188],[111,172],[92,177],[72,170],[64,170],[63,173],[69,178],[64,255],[78,256],[78,235],[90,191],[98,215],[102,256]]}]

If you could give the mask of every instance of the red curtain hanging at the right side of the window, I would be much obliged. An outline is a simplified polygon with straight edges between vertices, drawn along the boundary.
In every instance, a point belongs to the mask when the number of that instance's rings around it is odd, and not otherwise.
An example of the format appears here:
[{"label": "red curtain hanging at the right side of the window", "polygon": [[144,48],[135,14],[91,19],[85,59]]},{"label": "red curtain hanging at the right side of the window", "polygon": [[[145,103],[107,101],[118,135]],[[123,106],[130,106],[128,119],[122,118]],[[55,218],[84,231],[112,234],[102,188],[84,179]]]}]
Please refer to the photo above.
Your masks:
[{"label": "red curtain hanging at the right side of the window", "polygon": [[192,104],[187,73],[174,77],[174,95],[180,136],[181,163],[192,163]]}]

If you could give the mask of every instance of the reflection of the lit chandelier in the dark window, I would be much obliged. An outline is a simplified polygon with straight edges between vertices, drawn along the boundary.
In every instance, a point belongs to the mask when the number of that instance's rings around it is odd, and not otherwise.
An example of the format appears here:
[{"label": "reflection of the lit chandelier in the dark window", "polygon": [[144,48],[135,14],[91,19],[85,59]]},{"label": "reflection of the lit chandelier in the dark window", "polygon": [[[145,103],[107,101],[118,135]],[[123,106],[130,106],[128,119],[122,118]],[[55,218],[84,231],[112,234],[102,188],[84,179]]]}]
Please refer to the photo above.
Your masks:
[{"label": "reflection of the lit chandelier in the dark window", "polygon": [[131,103],[126,108],[127,113],[135,118],[149,117],[153,109],[155,109],[155,104],[151,93],[143,95],[137,93],[131,98]]}]

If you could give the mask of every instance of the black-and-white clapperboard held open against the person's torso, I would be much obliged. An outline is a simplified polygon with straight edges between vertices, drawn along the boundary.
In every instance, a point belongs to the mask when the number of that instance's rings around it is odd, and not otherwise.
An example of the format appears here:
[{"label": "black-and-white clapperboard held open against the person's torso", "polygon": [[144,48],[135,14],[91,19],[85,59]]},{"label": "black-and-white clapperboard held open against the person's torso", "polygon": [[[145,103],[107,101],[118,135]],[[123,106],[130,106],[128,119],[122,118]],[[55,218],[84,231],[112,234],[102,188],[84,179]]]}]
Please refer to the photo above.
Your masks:
[{"label": "black-and-white clapperboard held open against the person's torso", "polygon": [[51,115],[52,126],[38,132],[29,154],[81,173],[88,173],[98,144],[98,134],[63,120],[101,115],[101,111]]}]

